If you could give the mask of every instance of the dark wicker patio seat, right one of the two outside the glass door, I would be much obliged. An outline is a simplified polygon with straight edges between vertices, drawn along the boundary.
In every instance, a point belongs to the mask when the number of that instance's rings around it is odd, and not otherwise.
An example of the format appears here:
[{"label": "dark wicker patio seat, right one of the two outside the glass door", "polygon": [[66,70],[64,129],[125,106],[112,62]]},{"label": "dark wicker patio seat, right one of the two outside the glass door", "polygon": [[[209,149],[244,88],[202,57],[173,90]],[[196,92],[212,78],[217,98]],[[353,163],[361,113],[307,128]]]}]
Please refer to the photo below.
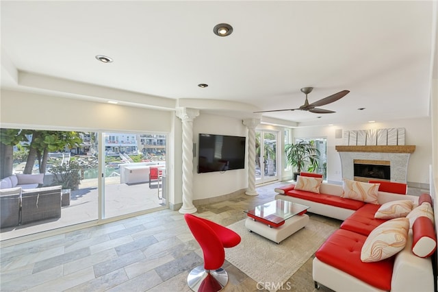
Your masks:
[{"label": "dark wicker patio seat, right one of the two outside the glass door", "polygon": [[21,194],[21,224],[61,217],[62,186],[47,186],[23,190]]}]

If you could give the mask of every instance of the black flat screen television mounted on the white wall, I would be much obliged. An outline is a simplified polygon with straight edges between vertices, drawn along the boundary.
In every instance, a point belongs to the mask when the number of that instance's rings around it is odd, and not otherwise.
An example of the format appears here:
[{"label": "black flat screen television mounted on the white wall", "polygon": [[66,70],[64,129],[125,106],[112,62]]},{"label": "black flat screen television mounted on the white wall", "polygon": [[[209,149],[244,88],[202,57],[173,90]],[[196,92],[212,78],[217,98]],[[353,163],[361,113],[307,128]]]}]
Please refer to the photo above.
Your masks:
[{"label": "black flat screen television mounted on the white wall", "polygon": [[199,134],[198,173],[245,168],[245,137]]}]

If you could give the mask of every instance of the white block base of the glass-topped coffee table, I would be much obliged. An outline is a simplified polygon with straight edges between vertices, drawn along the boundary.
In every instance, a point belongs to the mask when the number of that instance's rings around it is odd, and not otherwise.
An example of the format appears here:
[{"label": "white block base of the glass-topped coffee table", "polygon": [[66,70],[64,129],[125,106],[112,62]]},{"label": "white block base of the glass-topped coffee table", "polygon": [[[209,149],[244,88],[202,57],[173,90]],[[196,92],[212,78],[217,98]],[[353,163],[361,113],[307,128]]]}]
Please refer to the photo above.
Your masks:
[{"label": "white block base of the glass-topped coffee table", "polygon": [[255,232],[266,239],[279,244],[301,228],[304,228],[308,222],[309,216],[307,214],[296,215],[287,219],[282,226],[271,228],[265,223],[255,221],[252,218],[247,218],[245,221],[245,227],[250,232]]}]

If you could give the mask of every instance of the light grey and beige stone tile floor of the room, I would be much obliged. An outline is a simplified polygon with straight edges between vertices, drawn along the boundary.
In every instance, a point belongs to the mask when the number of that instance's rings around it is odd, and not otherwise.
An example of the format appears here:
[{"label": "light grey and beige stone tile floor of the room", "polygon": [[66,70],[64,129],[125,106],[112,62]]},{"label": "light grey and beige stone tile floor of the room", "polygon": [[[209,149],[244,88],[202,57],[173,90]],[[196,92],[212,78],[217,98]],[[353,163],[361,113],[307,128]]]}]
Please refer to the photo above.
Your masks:
[{"label": "light grey and beige stone tile floor of the room", "polygon": [[[197,215],[228,226],[245,218],[242,210],[274,199],[276,184],[257,188],[257,196],[196,206]],[[0,253],[1,291],[190,291],[188,272],[203,262],[183,215],[171,210],[3,247]],[[289,278],[288,291],[316,291],[311,260]],[[227,261],[224,267],[224,291],[259,291],[242,271]]]}]

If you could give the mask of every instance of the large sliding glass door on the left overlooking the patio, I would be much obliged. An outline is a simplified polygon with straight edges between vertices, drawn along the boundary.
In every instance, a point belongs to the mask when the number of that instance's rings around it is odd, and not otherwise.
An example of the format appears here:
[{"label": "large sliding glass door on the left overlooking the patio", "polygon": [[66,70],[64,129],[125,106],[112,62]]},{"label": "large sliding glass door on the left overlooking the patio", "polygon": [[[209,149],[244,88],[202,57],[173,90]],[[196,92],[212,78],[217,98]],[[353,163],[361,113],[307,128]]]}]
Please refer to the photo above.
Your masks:
[{"label": "large sliding glass door on the left overlooking the patio", "polygon": [[[1,226],[2,241],[167,206],[166,134],[0,131],[2,179],[19,183],[16,178],[42,176],[37,190],[62,186],[60,206],[50,205],[56,216],[42,220],[37,214],[34,221]],[[2,180],[2,191],[12,187]],[[35,212],[46,204],[39,201]],[[3,222],[6,215],[0,216]]]}]

